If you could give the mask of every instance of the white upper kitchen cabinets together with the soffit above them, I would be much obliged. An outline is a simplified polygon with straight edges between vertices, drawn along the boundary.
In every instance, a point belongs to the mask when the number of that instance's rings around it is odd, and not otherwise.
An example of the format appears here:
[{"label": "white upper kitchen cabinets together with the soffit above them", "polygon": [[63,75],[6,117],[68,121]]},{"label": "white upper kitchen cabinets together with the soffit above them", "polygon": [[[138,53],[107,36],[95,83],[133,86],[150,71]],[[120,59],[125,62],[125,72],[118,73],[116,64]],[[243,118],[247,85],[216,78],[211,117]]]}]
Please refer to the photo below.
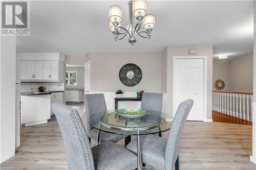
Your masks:
[{"label": "white upper kitchen cabinets together with the soffit above them", "polygon": [[62,82],[64,56],[59,53],[17,53],[21,82]]}]

